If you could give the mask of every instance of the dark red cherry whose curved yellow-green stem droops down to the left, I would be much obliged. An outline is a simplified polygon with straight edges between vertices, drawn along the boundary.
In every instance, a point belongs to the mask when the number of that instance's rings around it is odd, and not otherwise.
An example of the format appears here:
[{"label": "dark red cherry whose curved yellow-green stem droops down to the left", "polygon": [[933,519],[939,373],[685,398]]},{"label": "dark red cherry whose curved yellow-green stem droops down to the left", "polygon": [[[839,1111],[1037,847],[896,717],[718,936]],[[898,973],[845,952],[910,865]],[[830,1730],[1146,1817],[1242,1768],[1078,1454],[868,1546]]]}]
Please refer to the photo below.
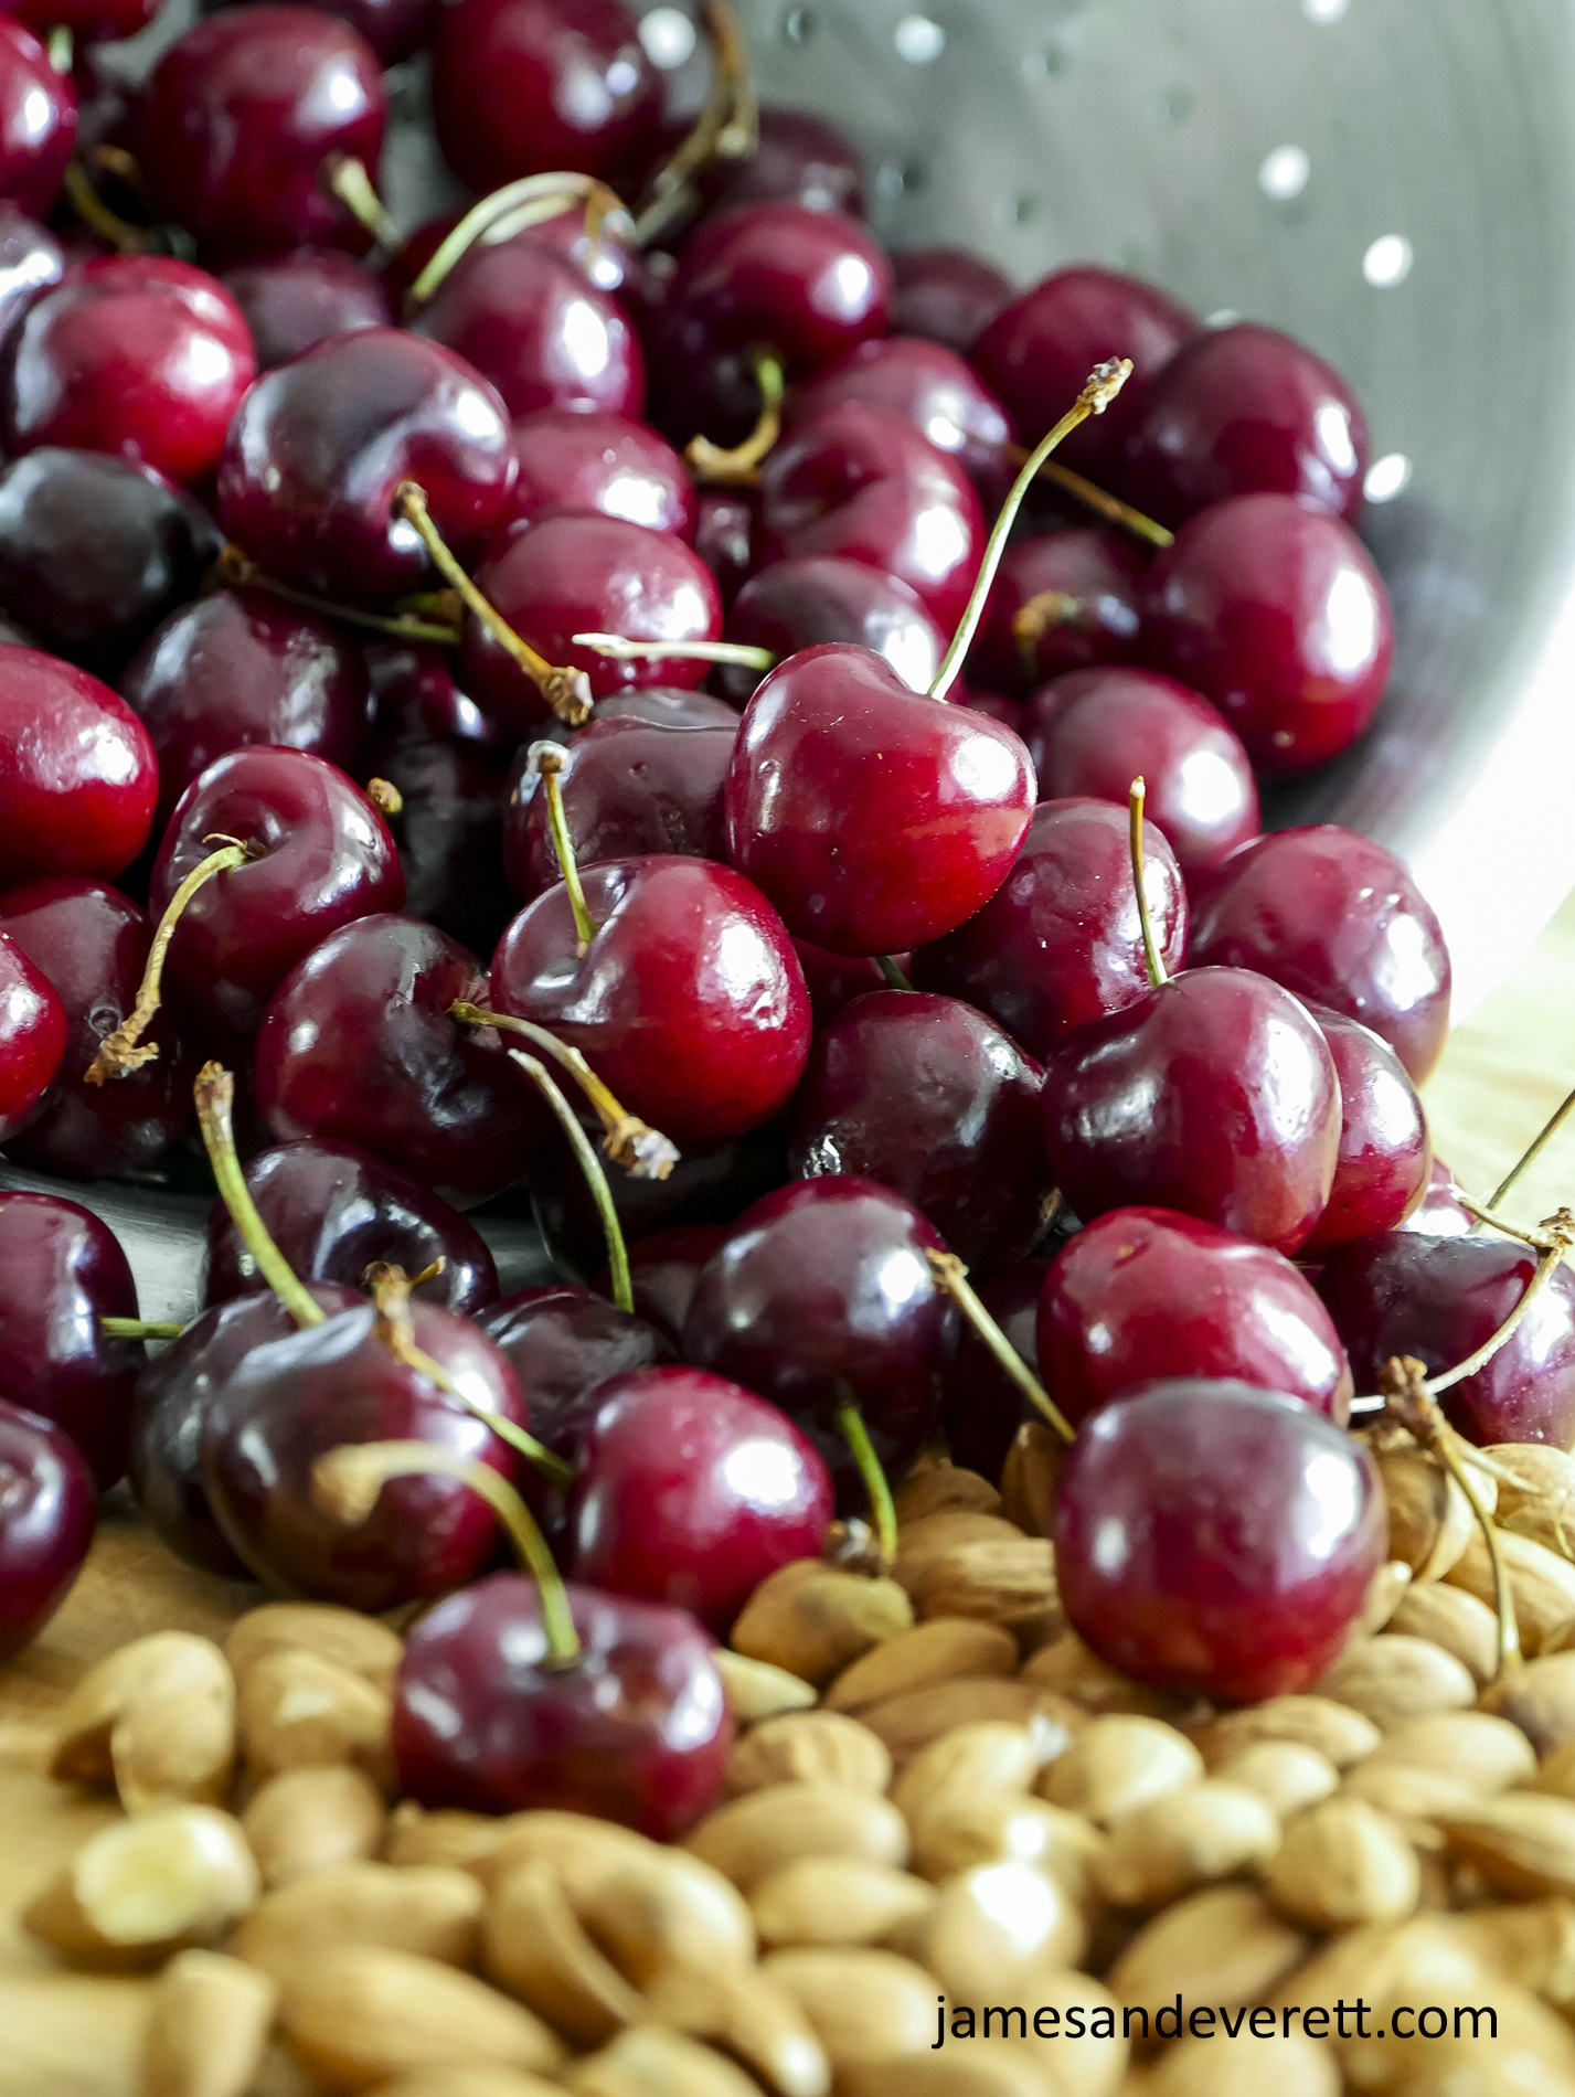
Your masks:
[{"label": "dark red cherry whose curved yellow-green stem droops down to the left", "polygon": [[350,918],[398,910],[405,877],[365,793],[308,751],[231,751],[187,786],[153,862],[153,916],[216,837],[260,851],[197,889],[170,939],[166,973],[201,1023],[245,1038],[319,939]]}]

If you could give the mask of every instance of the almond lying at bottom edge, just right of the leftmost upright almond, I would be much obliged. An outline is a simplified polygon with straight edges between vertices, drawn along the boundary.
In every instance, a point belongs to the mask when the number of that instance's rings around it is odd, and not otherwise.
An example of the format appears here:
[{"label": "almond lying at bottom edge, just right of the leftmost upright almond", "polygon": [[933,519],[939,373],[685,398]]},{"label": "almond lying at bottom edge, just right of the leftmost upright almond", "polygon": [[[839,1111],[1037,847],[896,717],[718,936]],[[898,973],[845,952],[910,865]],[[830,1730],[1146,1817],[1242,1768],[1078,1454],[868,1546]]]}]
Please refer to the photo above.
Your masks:
[{"label": "almond lying at bottom edge, just right of the leftmost upright almond", "polygon": [[331,2093],[415,2068],[495,2061],[541,2072],[564,2059],[545,2024],[484,1982],[367,1944],[304,1963],[285,1986],[279,2022],[296,2059]]}]

